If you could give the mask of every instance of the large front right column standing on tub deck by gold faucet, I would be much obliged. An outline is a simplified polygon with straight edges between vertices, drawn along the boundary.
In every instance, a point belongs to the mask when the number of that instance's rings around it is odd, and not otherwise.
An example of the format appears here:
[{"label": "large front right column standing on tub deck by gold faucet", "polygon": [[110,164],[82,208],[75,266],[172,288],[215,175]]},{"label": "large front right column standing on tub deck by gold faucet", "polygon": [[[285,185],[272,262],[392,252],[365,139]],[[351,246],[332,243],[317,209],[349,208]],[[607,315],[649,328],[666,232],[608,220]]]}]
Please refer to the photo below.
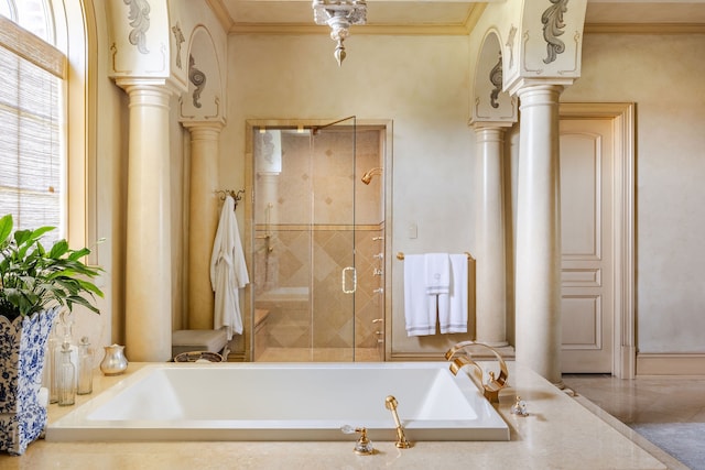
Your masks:
[{"label": "large front right column standing on tub deck by gold faucet", "polygon": [[563,87],[518,90],[517,362],[561,382],[558,99]]}]

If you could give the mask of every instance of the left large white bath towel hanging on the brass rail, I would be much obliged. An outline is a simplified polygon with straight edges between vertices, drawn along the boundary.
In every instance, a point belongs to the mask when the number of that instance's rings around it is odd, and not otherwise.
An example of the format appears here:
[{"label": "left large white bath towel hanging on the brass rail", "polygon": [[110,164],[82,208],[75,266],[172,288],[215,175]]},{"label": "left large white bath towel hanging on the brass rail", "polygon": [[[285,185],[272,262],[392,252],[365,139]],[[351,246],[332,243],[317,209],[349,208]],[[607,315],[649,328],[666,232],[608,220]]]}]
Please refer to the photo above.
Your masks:
[{"label": "left large white bath towel hanging on the brass rail", "polygon": [[408,336],[436,332],[436,296],[426,294],[426,265],[423,254],[404,258],[404,316]]}]

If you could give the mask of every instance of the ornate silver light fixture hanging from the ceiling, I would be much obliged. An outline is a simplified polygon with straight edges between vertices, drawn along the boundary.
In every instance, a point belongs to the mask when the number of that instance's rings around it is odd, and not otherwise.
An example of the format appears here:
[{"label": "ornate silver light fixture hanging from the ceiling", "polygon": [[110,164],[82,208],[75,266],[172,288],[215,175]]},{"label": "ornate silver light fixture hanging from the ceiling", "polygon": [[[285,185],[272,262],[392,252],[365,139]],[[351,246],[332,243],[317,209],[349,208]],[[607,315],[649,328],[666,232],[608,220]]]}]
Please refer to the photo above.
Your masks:
[{"label": "ornate silver light fixture hanging from the ceiling", "polygon": [[365,0],[313,0],[313,17],[316,24],[330,28],[330,39],[337,41],[335,59],[338,66],[345,59],[343,41],[350,35],[352,24],[365,24],[367,21],[367,3]]}]

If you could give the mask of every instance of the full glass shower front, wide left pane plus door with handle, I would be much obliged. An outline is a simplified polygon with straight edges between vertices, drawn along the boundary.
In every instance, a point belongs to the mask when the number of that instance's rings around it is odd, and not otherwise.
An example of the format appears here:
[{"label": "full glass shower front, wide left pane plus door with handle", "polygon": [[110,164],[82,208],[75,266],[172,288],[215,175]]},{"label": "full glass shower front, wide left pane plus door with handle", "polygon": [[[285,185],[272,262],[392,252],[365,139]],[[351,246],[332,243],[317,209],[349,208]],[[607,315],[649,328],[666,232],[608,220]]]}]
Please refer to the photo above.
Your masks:
[{"label": "full glass shower front, wide left pane plus door with handle", "polygon": [[252,359],[354,361],[356,120],[253,127]]}]

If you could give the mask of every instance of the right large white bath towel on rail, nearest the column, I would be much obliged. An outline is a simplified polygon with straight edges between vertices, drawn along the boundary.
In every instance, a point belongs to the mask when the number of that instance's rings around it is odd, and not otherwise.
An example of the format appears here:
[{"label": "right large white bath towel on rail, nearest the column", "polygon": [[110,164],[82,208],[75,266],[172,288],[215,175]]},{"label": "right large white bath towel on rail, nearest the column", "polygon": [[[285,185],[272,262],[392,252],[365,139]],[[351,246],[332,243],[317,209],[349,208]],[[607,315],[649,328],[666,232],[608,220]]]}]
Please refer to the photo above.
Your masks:
[{"label": "right large white bath towel on rail, nearest the column", "polygon": [[451,289],[438,294],[441,334],[467,332],[467,254],[451,254]]}]

